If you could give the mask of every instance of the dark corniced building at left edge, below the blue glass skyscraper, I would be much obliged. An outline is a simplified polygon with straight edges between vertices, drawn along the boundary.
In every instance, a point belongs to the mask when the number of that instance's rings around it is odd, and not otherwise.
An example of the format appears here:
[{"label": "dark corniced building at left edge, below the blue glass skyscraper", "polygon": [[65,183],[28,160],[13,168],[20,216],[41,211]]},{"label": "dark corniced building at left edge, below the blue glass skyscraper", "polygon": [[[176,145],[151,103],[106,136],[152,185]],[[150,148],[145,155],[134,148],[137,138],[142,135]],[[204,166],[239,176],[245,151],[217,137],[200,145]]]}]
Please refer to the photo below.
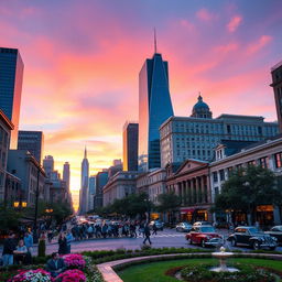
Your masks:
[{"label": "dark corniced building at left edge, below the blue glass skyscraper", "polygon": [[[1,78],[0,78],[1,79]],[[7,176],[7,161],[8,150],[13,124],[10,119],[0,109],[0,203],[6,198],[6,176]]]}]

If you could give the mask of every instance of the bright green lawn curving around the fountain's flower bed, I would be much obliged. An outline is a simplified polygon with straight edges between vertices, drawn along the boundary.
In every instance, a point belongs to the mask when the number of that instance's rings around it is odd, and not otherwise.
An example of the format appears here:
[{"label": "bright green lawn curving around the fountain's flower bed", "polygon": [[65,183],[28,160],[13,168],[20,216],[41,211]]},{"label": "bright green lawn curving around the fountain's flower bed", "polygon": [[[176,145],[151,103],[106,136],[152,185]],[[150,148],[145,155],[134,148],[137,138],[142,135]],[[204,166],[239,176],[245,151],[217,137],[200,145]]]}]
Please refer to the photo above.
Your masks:
[{"label": "bright green lawn curving around the fountain's flower bed", "polygon": [[[274,270],[282,270],[282,261],[264,260],[264,259],[230,259],[230,262],[240,262],[248,265],[258,265],[271,268]],[[165,275],[165,271],[175,267],[182,267],[189,263],[215,263],[218,264],[216,259],[183,259],[151,262],[139,265],[129,267],[122,271],[119,271],[119,276],[124,282],[176,282],[177,279]]]}]

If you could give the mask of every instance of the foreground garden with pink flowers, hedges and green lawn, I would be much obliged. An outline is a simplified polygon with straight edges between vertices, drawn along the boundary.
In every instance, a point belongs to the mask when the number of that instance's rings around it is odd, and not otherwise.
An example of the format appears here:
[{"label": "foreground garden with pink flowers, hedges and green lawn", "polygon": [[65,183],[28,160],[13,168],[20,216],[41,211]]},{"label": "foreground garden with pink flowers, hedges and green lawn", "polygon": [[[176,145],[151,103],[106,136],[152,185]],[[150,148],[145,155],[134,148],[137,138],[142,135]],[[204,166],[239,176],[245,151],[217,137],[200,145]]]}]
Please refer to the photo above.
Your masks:
[{"label": "foreground garden with pink flowers, hedges and green lawn", "polygon": [[[104,282],[97,264],[155,254],[172,254],[170,258],[151,257],[144,262],[130,262],[115,267],[115,271],[124,282],[279,282],[282,281],[282,261],[271,258],[259,258],[269,254],[268,251],[251,251],[253,258],[240,258],[241,251],[235,252],[235,258],[228,260],[228,265],[240,270],[239,273],[217,274],[209,271],[218,265],[218,260],[212,258],[212,249],[187,248],[150,248],[143,247],[137,250],[117,249],[85,251],[63,256],[66,270],[52,278],[45,270],[50,259],[34,257],[32,265],[11,265],[0,268],[0,281],[9,282]],[[273,252],[271,252],[273,253]],[[282,254],[281,252],[274,252]],[[175,254],[175,256],[174,256]],[[280,257],[281,258],[281,257]]]}]

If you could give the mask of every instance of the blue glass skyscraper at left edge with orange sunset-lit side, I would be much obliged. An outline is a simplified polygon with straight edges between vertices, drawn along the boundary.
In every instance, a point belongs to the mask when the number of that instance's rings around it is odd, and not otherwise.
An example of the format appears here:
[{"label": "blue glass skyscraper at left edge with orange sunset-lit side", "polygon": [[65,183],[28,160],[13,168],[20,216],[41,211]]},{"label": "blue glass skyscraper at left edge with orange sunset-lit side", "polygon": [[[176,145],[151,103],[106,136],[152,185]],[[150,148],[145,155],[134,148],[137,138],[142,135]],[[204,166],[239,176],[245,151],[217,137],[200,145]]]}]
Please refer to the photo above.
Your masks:
[{"label": "blue glass skyscraper at left edge with orange sunset-lit side", "polygon": [[17,48],[0,47],[0,109],[14,124],[11,149],[17,149],[22,95],[23,62]]}]

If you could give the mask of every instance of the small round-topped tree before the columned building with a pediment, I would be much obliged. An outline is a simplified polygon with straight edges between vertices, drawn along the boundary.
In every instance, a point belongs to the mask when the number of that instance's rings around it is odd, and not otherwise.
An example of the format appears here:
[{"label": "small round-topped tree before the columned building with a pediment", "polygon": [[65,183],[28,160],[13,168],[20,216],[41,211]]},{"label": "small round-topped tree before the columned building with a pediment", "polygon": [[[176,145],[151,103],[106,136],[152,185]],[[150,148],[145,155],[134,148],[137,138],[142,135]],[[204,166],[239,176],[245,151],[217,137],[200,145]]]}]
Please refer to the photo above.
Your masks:
[{"label": "small round-topped tree before the columned building with a pediment", "polygon": [[169,221],[173,224],[174,213],[178,210],[181,206],[181,197],[177,196],[174,192],[163,193],[158,196],[159,205],[156,209],[160,213],[169,213]]}]

